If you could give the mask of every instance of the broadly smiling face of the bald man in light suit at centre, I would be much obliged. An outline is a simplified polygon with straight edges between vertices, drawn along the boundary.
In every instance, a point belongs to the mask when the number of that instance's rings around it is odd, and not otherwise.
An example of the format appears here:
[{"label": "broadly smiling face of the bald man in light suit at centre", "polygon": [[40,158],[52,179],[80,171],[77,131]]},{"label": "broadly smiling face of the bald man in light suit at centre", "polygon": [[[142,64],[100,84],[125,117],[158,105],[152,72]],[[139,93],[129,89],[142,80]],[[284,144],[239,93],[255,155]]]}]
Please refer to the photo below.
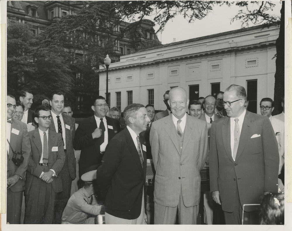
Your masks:
[{"label": "broadly smiling face of the bald man in light suit at centre", "polygon": [[180,120],[185,115],[189,106],[187,94],[180,88],[172,90],[169,92],[168,104],[173,115]]}]

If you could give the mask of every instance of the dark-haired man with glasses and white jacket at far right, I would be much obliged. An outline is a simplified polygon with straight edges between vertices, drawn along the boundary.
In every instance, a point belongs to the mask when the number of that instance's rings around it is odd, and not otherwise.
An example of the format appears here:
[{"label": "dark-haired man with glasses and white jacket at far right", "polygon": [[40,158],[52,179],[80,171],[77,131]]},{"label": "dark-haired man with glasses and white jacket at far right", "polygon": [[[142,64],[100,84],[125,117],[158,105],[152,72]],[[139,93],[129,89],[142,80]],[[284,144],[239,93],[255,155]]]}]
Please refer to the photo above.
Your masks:
[{"label": "dark-haired man with glasses and white jacket at far right", "polygon": [[[284,152],[285,152],[285,123],[274,116],[272,116],[272,111],[274,111],[274,101],[271,98],[263,98],[260,101],[260,113],[267,116],[272,124],[274,135],[277,139],[278,150],[279,150],[279,175],[281,174],[281,169],[284,165]],[[284,192],[284,185],[282,180],[278,178],[279,191]]]}]

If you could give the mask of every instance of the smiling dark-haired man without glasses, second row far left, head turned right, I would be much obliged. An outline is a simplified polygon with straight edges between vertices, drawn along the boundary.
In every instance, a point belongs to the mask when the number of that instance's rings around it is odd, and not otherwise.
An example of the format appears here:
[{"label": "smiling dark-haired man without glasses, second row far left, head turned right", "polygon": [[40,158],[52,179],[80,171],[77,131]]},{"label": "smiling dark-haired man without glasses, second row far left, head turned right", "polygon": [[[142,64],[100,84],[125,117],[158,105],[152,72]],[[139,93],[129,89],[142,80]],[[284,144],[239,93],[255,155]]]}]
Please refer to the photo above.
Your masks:
[{"label": "smiling dark-haired man without glasses, second row far left, head turned right", "polygon": [[34,111],[30,109],[33,103],[32,100],[34,99],[32,91],[23,89],[19,94],[19,101],[24,106],[24,113],[21,122],[32,124],[34,121]]}]

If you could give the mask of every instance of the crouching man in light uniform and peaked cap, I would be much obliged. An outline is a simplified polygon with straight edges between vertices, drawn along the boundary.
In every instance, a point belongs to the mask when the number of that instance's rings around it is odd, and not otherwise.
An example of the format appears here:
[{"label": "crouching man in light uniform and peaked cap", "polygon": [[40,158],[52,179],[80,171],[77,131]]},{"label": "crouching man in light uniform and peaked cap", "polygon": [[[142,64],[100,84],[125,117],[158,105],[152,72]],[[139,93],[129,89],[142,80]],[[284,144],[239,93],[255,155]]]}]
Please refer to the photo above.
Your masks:
[{"label": "crouching man in light uniform and peaked cap", "polygon": [[[89,167],[81,176],[84,186],[75,192],[64,209],[61,224],[96,224],[97,215],[104,214],[95,196],[96,170],[99,165]],[[93,215],[88,218],[88,215]]]}]

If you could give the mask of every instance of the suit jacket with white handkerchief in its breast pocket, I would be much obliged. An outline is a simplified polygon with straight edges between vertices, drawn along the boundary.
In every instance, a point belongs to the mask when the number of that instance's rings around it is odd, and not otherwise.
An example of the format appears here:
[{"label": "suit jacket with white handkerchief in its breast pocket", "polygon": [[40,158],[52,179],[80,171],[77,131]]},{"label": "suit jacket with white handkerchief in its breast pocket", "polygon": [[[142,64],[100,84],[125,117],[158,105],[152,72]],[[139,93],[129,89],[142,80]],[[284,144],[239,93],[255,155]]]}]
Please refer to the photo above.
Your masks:
[{"label": "suit jacket with white handkerchief in its breast pocket", "polygon": [[236,187],[241,206],[259,204],[264,191],[277,193],[278,170],[277,140],[269,118],[246,111],[235,161],[231,156],[230,117],[212,123],[210,191],[219,190],[223,211],[234,210]]}]

